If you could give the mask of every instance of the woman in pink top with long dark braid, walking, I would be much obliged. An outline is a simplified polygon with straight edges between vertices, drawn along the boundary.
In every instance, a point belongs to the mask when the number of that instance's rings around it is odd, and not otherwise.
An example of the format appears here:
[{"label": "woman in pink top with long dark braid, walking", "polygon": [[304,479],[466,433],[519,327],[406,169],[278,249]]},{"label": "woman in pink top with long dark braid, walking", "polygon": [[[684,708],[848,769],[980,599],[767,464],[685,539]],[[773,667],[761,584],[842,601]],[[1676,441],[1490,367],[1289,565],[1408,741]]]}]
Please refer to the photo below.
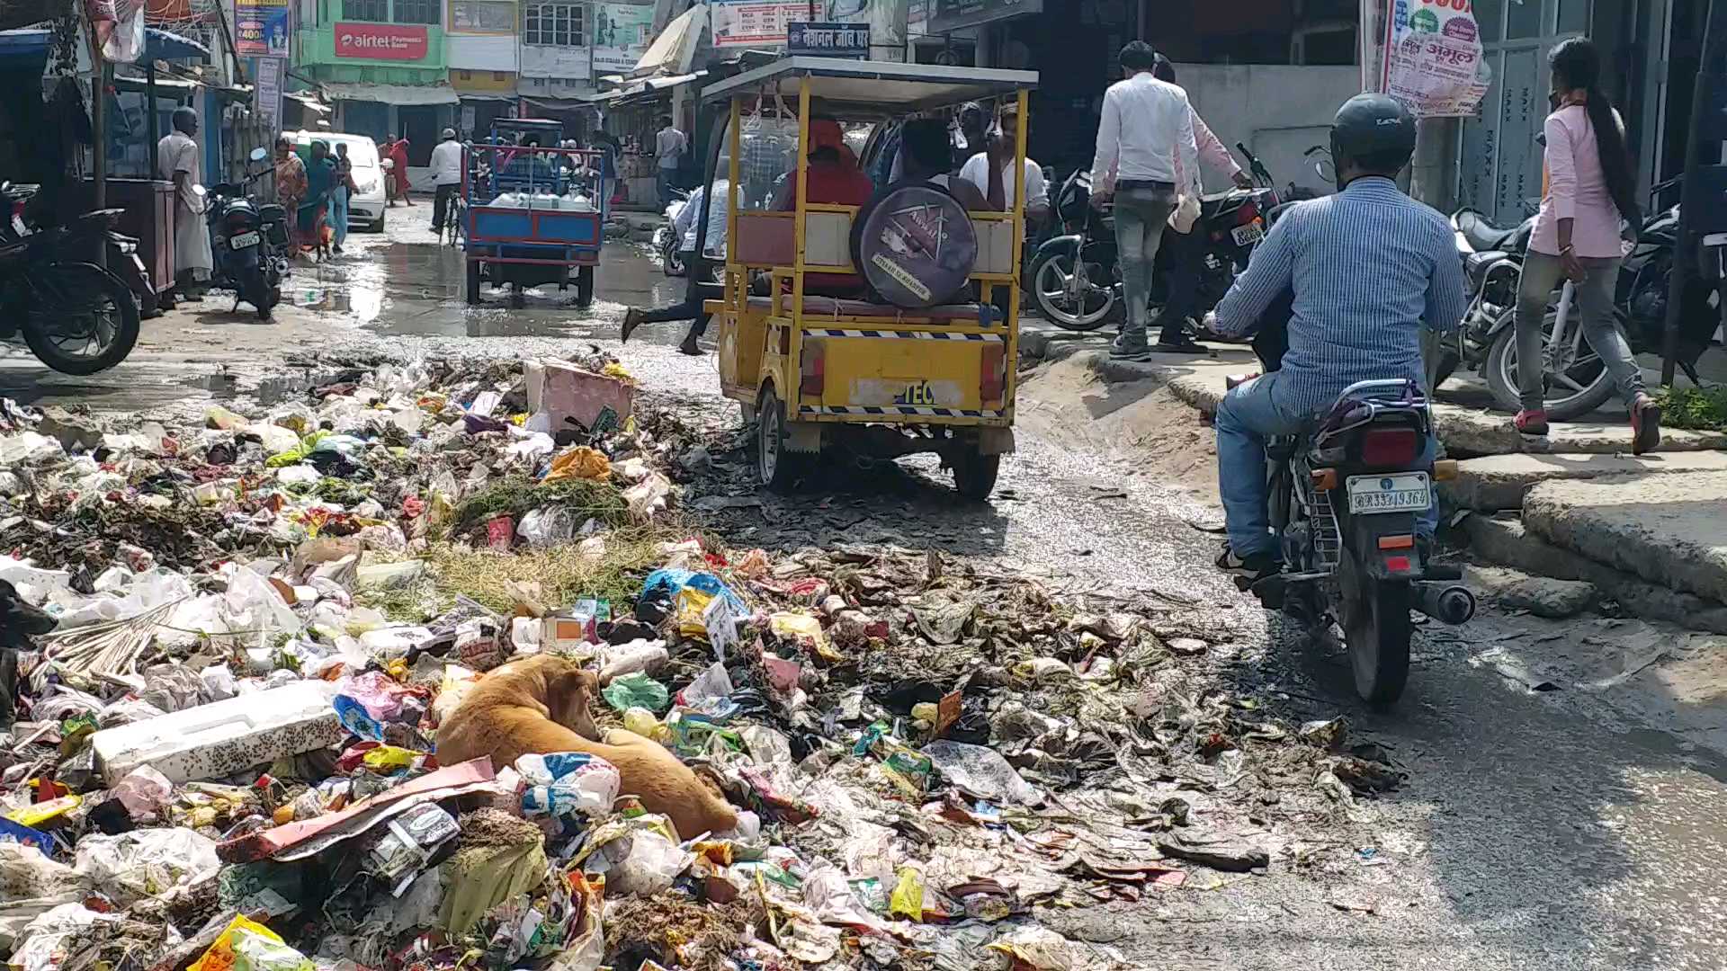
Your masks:
[{"label": "woman in pink top with long dark braid, walking", "polygon": [[1644,392],[1642,371],[1613,320],[1623,254],[1620,221],[1635,226],[1641,219],[1625,130],[1601,93],[1596,45],[1570,38],[1553,48],[1547,62],[1554,107],[1544,128],[1546,185],[1516,297],[1518,390],[1523,396],[1516,428],[1528,435],[1547,434],[1546,368],[1523,363],[1542,359],[1547,299],[1566,278],[1577,285],[1584,339],[1630,408],[1632,451],[1646,453],[1661,442],[1661,409]]}]

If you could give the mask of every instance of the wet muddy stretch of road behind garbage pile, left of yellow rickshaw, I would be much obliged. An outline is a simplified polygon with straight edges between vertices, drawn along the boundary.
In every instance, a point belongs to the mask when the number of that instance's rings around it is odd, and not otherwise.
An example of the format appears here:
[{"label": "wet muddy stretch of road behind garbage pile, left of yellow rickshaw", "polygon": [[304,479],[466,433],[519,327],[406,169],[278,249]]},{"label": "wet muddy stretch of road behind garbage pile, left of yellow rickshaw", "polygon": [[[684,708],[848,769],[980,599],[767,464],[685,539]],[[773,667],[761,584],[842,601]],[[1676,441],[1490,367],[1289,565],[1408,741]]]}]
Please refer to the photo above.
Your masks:
[{"label": "wet muddy stretch of road behind garbage pile, left of yellow rickshaw", "polygon": [[[0,344],[0,396],[26,404],[88,404],[102,413],[195,413],[237,396],[264,403],[319,380],[319,368],[285,368],[282,358],[401,349],[401,340],[577,339],[613,340],[629,306],[658,308],[684,297],[646,249],[608,242],[594,280],[594,304],[575,306],[575,289],[539,287],[522,308],[487,290],[470,308],[458,247],[437,245],[430,206],[390,213],[382,235],[354,233],[347,252],[294,266],[273,321],[257,321],[231,294],[212,292],[143,321],[131,356],[109,371],[73,377],[43,368],[22,340]],[[644,344],[672,346],[679,325],[649,327]],[[499,347],[496,352],[513,352]]]}]

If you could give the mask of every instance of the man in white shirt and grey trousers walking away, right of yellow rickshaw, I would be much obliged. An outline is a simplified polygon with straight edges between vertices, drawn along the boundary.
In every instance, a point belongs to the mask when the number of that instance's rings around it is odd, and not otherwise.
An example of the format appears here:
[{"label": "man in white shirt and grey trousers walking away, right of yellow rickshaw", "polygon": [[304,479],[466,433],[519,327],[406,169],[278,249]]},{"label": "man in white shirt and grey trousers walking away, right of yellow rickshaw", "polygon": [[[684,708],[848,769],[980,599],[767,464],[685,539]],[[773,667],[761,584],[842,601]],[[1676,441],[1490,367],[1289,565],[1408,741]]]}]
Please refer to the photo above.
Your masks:
[{"label": "man in white shirt and grey trousers walking away, right of yellow rickshaw", "polygon": [[1114,358],[1143,359],[1150,347],[1152,264],[1164,223],[1176,204],[1176,173],[1197,194],[1199,145],[1186,92],[1152,76],[1157,52],[1136,40],[1121,48],[1126,81],[1104,93],[1091,159],[1091,202],[1116,200],[1116,249],[1128,301],[1128,321],[1110,349]]}]

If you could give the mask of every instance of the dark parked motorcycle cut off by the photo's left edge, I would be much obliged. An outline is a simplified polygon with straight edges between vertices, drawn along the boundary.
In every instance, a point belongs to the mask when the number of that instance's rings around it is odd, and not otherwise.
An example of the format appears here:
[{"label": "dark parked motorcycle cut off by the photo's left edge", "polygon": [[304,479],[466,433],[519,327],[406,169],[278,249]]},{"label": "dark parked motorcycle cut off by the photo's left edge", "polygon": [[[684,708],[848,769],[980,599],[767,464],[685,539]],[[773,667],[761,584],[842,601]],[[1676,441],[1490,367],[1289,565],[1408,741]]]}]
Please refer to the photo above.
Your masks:
[{"label": "dark parked motorcycle cut off by the photo's left edge", "polygon": [[[10,199],[10,183],[0,197]],[[88,256],[124,209],[97,209],[59,226],[0,240],[0,339],[22,332],[36,358],[67,375],[105,371],[138,342],[138,299]]]}]

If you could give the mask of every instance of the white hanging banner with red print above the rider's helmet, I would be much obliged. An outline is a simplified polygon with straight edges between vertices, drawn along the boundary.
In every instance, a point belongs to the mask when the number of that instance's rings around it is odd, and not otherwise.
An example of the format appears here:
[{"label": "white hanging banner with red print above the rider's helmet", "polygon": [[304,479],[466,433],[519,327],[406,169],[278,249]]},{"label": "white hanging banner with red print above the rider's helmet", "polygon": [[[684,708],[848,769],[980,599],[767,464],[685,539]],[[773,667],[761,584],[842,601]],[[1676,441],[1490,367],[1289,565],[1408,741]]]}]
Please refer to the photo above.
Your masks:
[{"label": "white hanging banner with red print above the rider's helmet", "polygon": [[1361,0],[1361,88],[1416,117],[1475,114],[1492,74],[1470,0]]}]

